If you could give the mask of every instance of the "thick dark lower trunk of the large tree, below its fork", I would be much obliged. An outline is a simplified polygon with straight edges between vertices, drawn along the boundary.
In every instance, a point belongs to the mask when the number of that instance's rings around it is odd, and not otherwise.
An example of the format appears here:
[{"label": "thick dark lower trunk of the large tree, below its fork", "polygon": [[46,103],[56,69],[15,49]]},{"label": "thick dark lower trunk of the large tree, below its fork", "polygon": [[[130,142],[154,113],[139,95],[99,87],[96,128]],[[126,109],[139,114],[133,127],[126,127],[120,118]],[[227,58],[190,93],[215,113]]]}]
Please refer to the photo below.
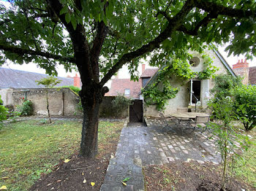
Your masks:
[{"label": "thick dark lower trunk of the large tree, below its fork", "polygon": [[83,128],[80,143],[80,156],[95,157],[98,151],[99,105],[107,88],[94,85],[83,85],[80,91],[83,106]]}]

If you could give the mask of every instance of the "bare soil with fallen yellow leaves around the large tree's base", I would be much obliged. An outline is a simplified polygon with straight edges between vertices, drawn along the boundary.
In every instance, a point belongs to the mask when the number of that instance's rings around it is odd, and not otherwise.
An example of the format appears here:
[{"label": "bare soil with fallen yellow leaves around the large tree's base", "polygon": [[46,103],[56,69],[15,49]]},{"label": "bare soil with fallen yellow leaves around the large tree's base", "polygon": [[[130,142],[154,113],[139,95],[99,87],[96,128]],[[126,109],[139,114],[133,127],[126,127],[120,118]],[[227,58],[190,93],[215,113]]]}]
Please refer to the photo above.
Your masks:
[{"label": "bare soil with fallen yellow leaves around the large tree's base", "polygon": [[[110,141],[96,159],[78,157],[75,153],[69,163],[61,161],[55,170],[47,175],[42,174],[30,190],[99,190],[104,182],[110,155],[116,152],[118,139]],[[91,185],[94,182],[94,186]],[[92,183],[93,184],[93,183]]]}]

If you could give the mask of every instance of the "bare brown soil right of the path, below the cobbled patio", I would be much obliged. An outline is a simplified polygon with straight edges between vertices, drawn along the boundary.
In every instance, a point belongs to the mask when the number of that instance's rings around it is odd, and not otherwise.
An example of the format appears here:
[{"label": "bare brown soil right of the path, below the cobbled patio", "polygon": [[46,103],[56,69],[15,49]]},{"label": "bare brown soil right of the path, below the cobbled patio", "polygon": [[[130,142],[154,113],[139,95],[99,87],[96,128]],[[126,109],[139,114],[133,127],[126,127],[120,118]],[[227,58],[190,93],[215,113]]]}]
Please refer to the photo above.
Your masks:
[{"label": "bare brown soil right of the path, below the cobbled patio", "polygon": [[[143,168],[146,179],[146,190],[176,191],[217,191],[221,189],[221,171],[213,163],[185,163],[175,161],[165,165],[148,165]],[[254,190],[251,185],[230,178],[227,190]]]}]

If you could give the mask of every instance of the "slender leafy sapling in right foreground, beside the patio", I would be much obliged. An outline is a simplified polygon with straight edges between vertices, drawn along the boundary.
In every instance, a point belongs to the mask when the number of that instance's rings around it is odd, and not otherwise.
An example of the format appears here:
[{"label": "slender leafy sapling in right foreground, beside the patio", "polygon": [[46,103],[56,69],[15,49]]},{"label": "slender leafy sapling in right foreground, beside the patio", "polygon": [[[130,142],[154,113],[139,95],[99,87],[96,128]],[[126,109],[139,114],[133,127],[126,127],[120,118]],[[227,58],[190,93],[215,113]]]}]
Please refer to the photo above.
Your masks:
[{"label": "slender leafy sapling in right foreground, beside the patio", "polygon": [[241,152],[249,148],[249,137],[236,132],[232,125],[232,120],[236,119],[236,113],[233,109],[233,100],[230,97],[222,98],[218,102],[211,100],[209,106],[214,111],[215,122],[210,122],[209,127],[217,136],[216,144],[222,156],[222,190],[225,190],[228,182],[228,174],[232,171],[232,164],[227,159],[232,158],[236,161],[241,157]]}]

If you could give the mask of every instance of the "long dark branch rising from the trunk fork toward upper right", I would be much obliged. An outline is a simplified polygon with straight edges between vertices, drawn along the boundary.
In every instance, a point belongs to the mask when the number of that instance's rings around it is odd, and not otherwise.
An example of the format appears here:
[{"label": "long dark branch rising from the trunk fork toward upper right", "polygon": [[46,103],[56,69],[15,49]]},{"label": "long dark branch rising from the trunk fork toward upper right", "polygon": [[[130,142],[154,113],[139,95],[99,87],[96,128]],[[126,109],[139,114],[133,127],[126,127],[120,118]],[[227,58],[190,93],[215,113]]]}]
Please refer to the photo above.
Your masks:
[{"label": "long dark branch rising from the trunk fork toward upper right", "polygon": [[151,42],[148,42],[148,44],[143,45],[138,50],[135,50],[133,52],[128,52],[124,54],[120,60],[108,71],[108,73],[105,75],[105,77],[102,78],[101,82],[99,82],[99,85],[103,86],[106,82],[115,74],[121,67],[129,62],[132,61],[132,59],[139,57],[140,55],[143,55],[147,52],[151,52],[155,48],[159,47],[159,45],[167,39],[169,36],[173,34],[174,31],[178,29],[182,25],[182,21],[187,16],[189,11],[194,6],[193,0],[188,0],[184,4],[184,7],[182,7],[181,11],[178,12],[175,17],[170,18],[168,20],[168,26],[165,28],[164,31],[162,31],[159,36],[157,36],[155,39],[153,39]]}]

